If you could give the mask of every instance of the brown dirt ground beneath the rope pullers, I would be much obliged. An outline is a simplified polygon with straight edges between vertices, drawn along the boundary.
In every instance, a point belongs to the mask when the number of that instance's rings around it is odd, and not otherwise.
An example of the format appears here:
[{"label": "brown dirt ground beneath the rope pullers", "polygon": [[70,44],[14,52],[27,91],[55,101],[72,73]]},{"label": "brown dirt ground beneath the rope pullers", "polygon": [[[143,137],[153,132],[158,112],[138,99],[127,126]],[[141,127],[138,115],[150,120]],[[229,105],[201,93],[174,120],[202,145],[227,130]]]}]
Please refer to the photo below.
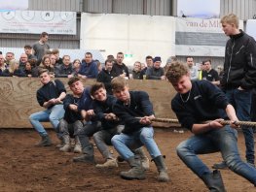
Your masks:
[{"label": "brown dirt ground beneath the rope pullers", "polygon": [[[49,130],[55,144],[55,132]],[[171,181],[160,183],[152,162],[145,180],[124,180],[119,172],[128,170],[127,163],[120,163],[117,169],[96,169],[93,165],[73,163],[73,152],[63,153],[55,146],[36,147],[39,136],[34,130],[0,129],[0,191],[207,191],[201,180],[195,176],[177,157],[175,146],[191,135],[190,132],[174,133],[173,129],[156,129],[156,141],[163,154]],[[239,133],[238,145],[244,159],[244,140]],[[116,152],[114,151],[116,154]],[[95,149],[97,162],[103,162]],[[221,161],[219,153],[201,156],[211,166]],[[221,171],[227,191],[256,191],[247,180],[230,170]]]}]

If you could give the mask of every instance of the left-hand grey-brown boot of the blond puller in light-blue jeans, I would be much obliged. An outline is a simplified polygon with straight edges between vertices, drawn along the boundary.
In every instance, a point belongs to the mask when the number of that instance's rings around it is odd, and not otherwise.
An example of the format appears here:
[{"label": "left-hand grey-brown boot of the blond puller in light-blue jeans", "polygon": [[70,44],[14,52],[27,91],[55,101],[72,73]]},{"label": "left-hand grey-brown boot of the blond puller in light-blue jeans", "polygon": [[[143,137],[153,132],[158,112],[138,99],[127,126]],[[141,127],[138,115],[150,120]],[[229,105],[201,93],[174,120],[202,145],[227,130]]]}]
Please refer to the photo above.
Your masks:
[{"label": "left-hand grey-brown boot of the blond puller in light-blue jeans", "polygon": [[134,156],[128,159],[128,164],[131,169],[128,172],[121,172],[120,176],[125,179],[145,179],[145,170],[141,166],[139,158]]}]

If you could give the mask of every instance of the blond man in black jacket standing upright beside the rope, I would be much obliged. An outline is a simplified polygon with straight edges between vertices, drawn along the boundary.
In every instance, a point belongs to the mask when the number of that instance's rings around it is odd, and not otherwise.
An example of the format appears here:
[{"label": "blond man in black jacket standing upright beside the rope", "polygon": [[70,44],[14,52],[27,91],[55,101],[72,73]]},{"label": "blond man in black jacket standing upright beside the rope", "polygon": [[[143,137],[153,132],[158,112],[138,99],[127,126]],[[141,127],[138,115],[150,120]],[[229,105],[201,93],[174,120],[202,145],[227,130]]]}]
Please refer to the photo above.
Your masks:
[{"label": "blond man in black jacket standing upright beside the rope", "polygon": [[[256,86],[256,42],[238,28],[238,16],[230,14],[221,18],[222,28],[230,36],[226,44],[224,74],[221,88],[236,109],[238,119],[250,121],[252,89]],[[246,146],[246,161],[255,166],[254,137],[251,127],[241,127]],[[214,164],[215,169],[225,169],[225,162]]]}]

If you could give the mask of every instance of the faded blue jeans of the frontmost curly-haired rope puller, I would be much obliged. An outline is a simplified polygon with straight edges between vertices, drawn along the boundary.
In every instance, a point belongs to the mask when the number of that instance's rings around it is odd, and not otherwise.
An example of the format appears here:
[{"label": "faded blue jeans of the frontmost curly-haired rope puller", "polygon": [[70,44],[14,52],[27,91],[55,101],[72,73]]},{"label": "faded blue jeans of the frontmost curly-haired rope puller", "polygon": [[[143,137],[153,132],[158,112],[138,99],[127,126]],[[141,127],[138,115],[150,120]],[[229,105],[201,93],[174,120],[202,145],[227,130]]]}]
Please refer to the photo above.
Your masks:
[{"label": "faded blue jeans of the frontmost curly-haired rope puller", "polygon": [[179,144],[176,149],[180,159],[199,177],[210,173],[210,170],[197,154],[220,151],[233,172],[256,184],[256,169],[241,161],[238,153],[238,132],[230,126],[192,136]]}]

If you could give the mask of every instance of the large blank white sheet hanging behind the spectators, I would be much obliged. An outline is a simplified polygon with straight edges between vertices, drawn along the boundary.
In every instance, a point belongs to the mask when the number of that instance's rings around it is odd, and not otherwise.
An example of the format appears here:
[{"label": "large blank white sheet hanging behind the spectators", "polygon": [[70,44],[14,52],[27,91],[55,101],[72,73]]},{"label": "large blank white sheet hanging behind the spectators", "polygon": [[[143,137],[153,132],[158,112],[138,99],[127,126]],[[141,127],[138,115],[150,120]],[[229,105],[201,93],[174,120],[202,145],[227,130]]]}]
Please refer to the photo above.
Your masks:
[{"label": "large blank white sheet hanging behind the spectators", "polygon": [[145,62],[147,55],[161,56],[163,66],[175,55],[175,18],[172,16],[137,16],[82,14],[81,48],[100,49],[104,57],[125,53],[124,62]]}]

